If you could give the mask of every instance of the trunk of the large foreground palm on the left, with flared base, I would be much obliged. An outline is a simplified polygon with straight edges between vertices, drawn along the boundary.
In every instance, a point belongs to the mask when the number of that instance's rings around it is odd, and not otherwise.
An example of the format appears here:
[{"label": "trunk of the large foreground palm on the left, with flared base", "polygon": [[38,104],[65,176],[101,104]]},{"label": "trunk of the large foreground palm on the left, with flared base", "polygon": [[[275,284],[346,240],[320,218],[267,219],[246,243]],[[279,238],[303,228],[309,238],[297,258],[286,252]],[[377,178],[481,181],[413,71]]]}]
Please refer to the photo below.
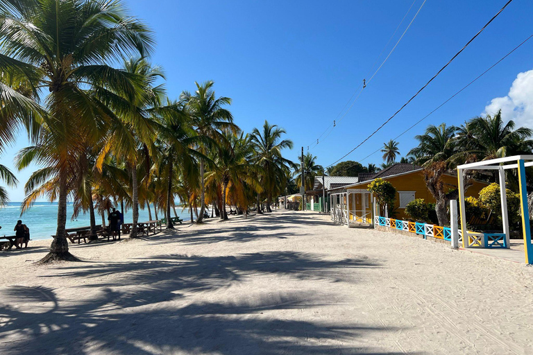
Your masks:
[{"label": "trunk of the large foreground palm on the left, with flared base", "polygon": [[56,236],[53,237],[50,245],[50,252],[42,258],[39,263],[51,263],[53,261],[79,261],[78,258],[69,253],[69,243],[67,241],[67,196],[69,194],[65,173],[60,173],[59,196],[58,196],[58,228]]}]

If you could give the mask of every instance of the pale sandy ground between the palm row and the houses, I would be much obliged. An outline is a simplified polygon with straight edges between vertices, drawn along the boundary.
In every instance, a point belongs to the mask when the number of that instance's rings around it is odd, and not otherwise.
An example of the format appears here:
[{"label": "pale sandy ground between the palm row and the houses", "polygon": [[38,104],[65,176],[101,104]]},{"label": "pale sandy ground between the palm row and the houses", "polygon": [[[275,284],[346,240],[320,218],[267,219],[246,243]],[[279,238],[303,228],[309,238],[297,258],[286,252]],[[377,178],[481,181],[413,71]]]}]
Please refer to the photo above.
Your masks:
[{"label": "pale sandy ground between the palm row and the houses", "polygon": [[533,354],[533,268],[328,216],[48,245],[0,252],[0,354]]}]

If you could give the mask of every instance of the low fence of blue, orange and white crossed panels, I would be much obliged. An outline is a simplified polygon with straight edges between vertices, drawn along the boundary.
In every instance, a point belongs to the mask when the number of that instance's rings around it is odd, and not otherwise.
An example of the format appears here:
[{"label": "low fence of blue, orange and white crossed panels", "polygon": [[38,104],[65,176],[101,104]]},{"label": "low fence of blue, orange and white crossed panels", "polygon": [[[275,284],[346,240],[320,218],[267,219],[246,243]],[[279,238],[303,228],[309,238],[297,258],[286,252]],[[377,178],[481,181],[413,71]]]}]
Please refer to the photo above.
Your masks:
[{"label": "low fence of blue, orange and white crossed panels", "polygon": [[[428,239],[428,236],[431,236],[433,238],[443,239],[444,241],[452,241],[452,230],[450,227],[441,227],[440,225],[410,222],[408,220],[385,218],[381,216],[375,216],[374,221],[376,225],[389,227],[393,230],[403,230],[404,232],[422,235],[424,236],[424,239]],[[505,234],[492,233],[482,234],[482,236],[484,237],[484,245],[486,245],[486,248],[507,248]],[[462,232],[459,230],[459,242],[462,241]]]}]

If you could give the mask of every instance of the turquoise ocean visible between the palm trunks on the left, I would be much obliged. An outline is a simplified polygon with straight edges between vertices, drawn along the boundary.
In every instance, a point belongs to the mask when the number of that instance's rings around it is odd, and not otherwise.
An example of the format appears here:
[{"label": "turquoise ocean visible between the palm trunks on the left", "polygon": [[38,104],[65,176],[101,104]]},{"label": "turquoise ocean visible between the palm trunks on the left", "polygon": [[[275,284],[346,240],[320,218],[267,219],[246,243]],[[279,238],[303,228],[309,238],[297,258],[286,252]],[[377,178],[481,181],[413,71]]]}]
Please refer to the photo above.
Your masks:
[{"label": "turquoise ocean visible between the palm trunks on the left", "polygon": [[[31,233],[31,239],[49,239],[51,235],[56,234],[57,220],[58,220],[58,204],[57,202],[35,202],[35,204],[20,216],[21,202],[8,202],[6,207],[0,209],[0,236],[12,236],[15,234],[13,228],[17,224],[17,220],[22,219],[22,223],[28,226]],[[152,209],[152,218],[155,219],[155,214]],[[76,220],[71,220],[72,205],[67,206],[67,228],[85,227],[90,225],[89,214],[81,214]],[[190,220],[189,209],[182,211],[181,207],[176,207],[178,216],[183,220]],[[174,211],[171,211],[174,216]],[[162,214],[158,213],[158,217],[162,218]],[[108,216],[105,214],[107,223]],[[149,220],[148,209],[139,209],[139,222]],[[125,223],[132,222],[132,211],[124,211]],[[100,215],[96,214],[96,224],[102,223]]]}]

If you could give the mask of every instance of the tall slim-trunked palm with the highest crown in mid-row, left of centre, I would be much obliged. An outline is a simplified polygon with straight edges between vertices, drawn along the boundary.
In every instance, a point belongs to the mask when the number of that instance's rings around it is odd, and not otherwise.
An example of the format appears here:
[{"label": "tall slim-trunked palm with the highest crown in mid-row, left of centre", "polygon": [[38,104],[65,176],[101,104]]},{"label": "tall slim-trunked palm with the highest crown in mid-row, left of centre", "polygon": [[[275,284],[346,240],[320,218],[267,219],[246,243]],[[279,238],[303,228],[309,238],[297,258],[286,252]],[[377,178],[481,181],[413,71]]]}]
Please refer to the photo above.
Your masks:
[{"label": "tall slim-trunked palm with the highest crown in mid-row, left of centre", "polygon": [[[208,146],[213,148],[214,144],[223,141],[223,132],[237,132],[238,128],[233,123],[231,112],[223,108],[224,105],[231,105],[231,98],[221,96],[217,98],[213,90],[213,81],[208,81],[202,85],[196,85],[194,95],[189,92],[181,94],[181,100],[187,105],[187,110],[193,119],[198,135],[208,137],[211,142],[203,142],[198,146],[198,150],[203,155],[207,155]],[[205,161],[200,159],[200,182],[201,182],[201,208],[196,223],[202,223],[205,213]]]}]

